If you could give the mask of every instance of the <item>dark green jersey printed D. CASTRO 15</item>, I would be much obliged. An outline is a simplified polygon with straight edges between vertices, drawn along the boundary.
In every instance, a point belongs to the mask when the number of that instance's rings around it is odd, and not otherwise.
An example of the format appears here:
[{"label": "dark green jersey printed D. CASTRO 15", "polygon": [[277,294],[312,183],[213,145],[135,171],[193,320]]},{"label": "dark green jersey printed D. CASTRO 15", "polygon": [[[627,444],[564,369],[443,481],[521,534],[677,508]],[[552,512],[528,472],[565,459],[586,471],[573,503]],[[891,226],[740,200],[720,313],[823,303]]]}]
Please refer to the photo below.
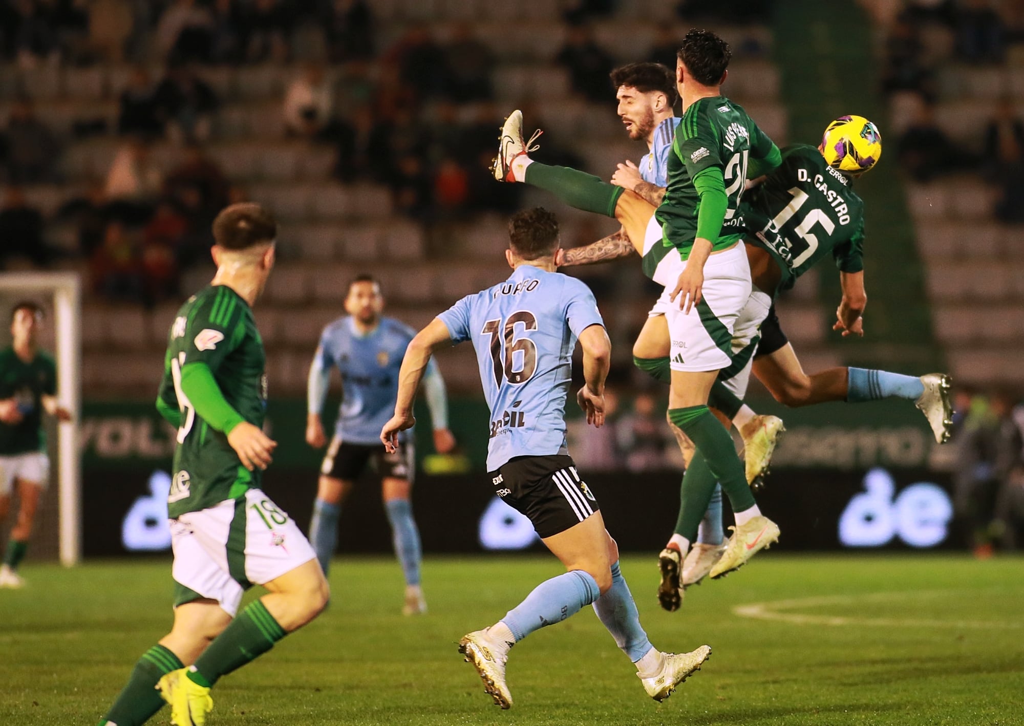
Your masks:
[{"label": "dark green jersey printed D. CASTRO 15", "polygon": [[844,272],[864,268],[864,203],[850,177],[804,143],[782,150],[782,163],[741,206],[748,243],[767,250],[782,270],[779,290],[831,253]]}]

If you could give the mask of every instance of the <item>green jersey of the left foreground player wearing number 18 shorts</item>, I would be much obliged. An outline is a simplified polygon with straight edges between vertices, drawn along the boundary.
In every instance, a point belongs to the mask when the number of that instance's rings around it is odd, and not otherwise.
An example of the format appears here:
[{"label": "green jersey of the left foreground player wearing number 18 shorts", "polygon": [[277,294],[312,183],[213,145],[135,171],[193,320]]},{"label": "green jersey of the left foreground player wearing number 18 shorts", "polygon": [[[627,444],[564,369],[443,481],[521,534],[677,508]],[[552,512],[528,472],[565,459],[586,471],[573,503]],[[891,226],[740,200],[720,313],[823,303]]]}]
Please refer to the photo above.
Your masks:
[{"label": "green jersey of the left foreground player wearing number 18 shorts", "polygon": [[249,303],[226,286],[210,286],[189,298],[168,336],[160,397],[181,411],[167,499],[171,517],[243,497],[248,488],[259,486],[260,480],[259,470],[242,466],[227,436],[211,428],[182,392],[181,370],[191,362],[209,366],[231,408],[254,426],[263,426],[263,340]]}]

